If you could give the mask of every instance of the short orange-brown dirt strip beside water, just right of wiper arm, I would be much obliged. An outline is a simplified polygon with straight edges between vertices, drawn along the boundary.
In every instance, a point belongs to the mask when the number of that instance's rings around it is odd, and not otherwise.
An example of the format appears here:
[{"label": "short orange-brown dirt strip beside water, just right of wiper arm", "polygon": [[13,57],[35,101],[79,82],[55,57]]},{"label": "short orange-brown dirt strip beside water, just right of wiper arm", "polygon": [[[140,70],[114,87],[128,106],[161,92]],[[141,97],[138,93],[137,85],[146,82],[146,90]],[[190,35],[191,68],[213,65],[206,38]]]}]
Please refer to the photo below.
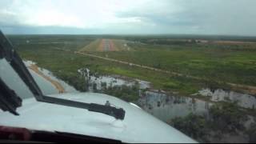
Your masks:
[{"label": "short orange-brown dirt strip beside water, just right of wiper arm", "polygon": [[45,78],[48,82],[50,82],[51,84],[54,85],[54,87],[58,90],[58,93],[65,93],[65,89],[64,87],[58,83],[57,81],[54,81],[53,79],[51,79],[50,77],[46,76],[45,74],[43,74],[40,70],[38,70],[38,66],[36,65],[30,65],[28,66],[30,70],[33,70],[35,73],[37,73],[38,75],[42,76],[42,78]]}]

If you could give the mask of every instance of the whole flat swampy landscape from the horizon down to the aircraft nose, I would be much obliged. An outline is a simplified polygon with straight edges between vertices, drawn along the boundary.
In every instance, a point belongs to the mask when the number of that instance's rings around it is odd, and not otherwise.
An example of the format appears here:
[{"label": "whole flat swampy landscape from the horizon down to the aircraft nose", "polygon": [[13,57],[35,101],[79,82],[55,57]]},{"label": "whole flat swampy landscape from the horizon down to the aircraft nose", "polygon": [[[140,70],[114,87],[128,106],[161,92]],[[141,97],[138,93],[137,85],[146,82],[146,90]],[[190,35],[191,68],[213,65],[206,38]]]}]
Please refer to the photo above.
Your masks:
[{"label": "whole flat swampy landscape from the horizon down to the aircraft nose", "polygon": [[[132,102],[198,142],[255,142],[255,39],[166,35],[8,38],[26,65],[34,62],[51,82],[62,85],[62,92],[103,93]],[[34,78],[46,88],[47,78]],[[58,93],[53,87],[45,91]]]}]

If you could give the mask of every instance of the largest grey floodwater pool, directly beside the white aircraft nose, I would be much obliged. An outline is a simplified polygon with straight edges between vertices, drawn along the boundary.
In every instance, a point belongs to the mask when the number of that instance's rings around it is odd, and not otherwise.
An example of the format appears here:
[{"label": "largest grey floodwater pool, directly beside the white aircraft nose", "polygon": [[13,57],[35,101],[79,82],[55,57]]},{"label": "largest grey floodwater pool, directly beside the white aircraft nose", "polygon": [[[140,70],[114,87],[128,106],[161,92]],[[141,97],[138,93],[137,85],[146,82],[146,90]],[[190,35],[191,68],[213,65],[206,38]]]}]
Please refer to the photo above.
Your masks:
[{"label": "largest grey floodwater pool, directly beside the white aircraft nose", "polygon": [[138,106],[164,122],[190,113],[208,116],[211,105],[212,103],[197,98],[170,96],[154,91],[146,91],[138,99]]}]

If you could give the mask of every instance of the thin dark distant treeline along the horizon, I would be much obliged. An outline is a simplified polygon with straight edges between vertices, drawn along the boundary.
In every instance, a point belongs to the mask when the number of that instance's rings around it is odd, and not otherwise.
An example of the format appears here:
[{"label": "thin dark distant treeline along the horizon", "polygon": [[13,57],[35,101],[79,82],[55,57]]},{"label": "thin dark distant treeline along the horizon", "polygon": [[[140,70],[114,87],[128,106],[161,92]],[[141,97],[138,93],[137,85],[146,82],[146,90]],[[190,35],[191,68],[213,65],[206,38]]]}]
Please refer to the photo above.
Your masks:
[{"label": "thin dark distant treeline along the horizon", "polygon": [[198,35],[198,34],[19,34],[7,35],[8,38],[116,38],[127,39],[132,41],[143,41],[148,39],[204,39],[208,41],[225,40],[225,41],[242,41],[242,42],[256,42],[254,36],[236,36],[236,35]]}]

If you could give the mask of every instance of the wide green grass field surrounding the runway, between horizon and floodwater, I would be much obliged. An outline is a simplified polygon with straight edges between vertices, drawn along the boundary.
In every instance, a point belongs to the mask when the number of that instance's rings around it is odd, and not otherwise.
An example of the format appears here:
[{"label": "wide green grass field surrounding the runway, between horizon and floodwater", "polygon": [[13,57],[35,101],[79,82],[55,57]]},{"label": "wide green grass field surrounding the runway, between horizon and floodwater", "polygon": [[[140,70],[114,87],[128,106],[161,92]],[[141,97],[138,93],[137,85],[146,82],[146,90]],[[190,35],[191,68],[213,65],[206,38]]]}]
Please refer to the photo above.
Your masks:
[{"label": "wide green grass field surrounding the runway, between horizon and floodwater", "polygon": [[[118,47],[118,51],[97,51],[101,38],[96,36],[12,36],[10,39],[22,58],[38,62],[38,66],[51,70],[58,77],[70,82],[79,83],[81,80],[78,78],[77,70],[88,67],[100,74],[120,74],[146,80],[157,89],[174,90],[180,94],[193,94],[202,87],[230,89],[230,86],[226,85],[228,82],[256,86],[254,43],[227,45],[174,42],[167,45],[152,44],[148,43],[152,41],[145,40],[135,42],[132,38],[126,38],[129,41],[113,38],[112,41]],[[124,50],[123,43],[131,50]],[[72,52],[76,50],[102,57],[108,55],[108,58],[192,75],[202,80],[175,77],[153,70],[77,55]],[[72,78],[73,80],[70,80]]]}]

